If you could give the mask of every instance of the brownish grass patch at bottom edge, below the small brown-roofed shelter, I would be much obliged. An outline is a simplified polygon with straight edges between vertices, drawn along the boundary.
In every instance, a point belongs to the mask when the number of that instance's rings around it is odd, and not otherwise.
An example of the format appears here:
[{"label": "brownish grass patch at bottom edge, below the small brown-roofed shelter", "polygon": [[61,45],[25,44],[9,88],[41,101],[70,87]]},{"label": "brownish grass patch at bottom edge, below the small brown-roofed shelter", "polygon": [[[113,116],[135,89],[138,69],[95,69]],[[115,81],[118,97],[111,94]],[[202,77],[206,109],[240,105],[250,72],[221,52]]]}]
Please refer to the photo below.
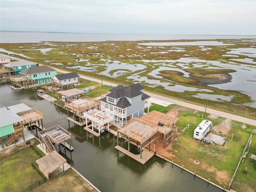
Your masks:
[{"label": "brownish grass patch at bottom edge, below the small brown-roofed shelter", "polygon": [[72,168],[69,168],[60,175],[32,190],[32,192],[55,191],[97,192],[97,190],[90,186],[90,184],[80,177]]}]

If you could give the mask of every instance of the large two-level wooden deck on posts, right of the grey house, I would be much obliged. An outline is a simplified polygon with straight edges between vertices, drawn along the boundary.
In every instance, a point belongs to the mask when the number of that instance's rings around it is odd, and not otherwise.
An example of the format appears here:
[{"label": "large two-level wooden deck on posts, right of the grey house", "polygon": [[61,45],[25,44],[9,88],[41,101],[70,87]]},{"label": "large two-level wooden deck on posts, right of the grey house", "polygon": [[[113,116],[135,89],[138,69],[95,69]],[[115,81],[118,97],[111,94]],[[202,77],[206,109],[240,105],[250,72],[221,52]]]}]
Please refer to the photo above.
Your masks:
[{"label": "large two-level wooden deck on posts, right of the grey house", "polygon": [[[130,154],[130,143],[140,148],[140,159],[138,160],[138,157],[135,159],[143,163],[149,160],[149,158],[143,161],[142,151],[147,146],[149,149],[148,151],[152,151],[150,149],[150,144],[154,140],[157,140],[158,137],[162,136],[164,138],[164,148],[166,146],[166,141],[171,142],[170,138],[175,138],[177,136],[177,121],[178,118],[176,117],[172,117],[157,111],[151,111],[140,118],[133,118],[127,123],[118,126],[117,135],[118,137],[125,138],[128,142],[128,150],[125,152],[125,154]],[[115,148],[122,152],[125,150],[124,148],[121,149],[121,147],[118,146],[118,139],[117,146]],[[131,155],[131,157],[134,158],[134,154]]]}]

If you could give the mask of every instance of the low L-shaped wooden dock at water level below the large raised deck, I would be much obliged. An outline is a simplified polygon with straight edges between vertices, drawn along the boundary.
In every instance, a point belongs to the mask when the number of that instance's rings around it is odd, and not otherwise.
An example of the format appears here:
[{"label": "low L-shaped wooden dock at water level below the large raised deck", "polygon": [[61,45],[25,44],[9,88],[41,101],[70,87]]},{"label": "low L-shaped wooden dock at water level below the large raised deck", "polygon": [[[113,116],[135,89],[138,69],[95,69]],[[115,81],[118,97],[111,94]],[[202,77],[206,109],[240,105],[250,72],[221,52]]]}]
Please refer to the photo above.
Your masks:
[{"label": "low L-shaped wooden dock at water level below the large raised deck", "polygon": [[135,155],[131,152],[128,152],[128,150],[122,148],[121,146],[115,146],[115,148],[142,164],[145,164],[148,160],[150,160],[150,158],[152,158],[152,156],[154,156],[153,152],[144,150],[142,152],[142,158],[140,158],[140,154]]}]

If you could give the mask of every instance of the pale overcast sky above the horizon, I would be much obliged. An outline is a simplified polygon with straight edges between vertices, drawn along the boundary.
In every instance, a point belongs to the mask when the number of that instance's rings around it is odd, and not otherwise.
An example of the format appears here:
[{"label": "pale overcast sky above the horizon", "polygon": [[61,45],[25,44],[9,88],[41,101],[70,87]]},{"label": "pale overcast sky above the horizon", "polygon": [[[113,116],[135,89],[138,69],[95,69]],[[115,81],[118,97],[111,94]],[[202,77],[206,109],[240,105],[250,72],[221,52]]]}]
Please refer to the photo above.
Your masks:
[{"label": "pale overcast sky above the horizon", "polygon": [[0,30],[256,35],[256,0],[0,0]]}]

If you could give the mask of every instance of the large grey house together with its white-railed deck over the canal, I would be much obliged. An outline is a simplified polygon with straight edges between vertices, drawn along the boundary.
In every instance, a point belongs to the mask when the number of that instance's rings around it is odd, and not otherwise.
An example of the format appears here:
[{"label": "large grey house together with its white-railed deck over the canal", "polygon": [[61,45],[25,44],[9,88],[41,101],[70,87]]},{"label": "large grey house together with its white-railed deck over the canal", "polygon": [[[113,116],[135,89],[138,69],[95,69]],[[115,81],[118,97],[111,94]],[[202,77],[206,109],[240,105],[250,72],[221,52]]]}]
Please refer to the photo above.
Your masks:
[{"label": "large grey house together with its white-railed deck over the canal", "polygon": [[[151,106],[150,96],[145,94],[141,84],[131,86],[118,85],[100,100],[101,111],[93,109],[84,113],[86,120],[85,130],[100,136],[101,132],[109,130],[111,124],[123,124],[127,120],[140,118],[144,115],[144,109]],[[88,120],[92,122],[89,129]],[[98,130],[95,134],[94,128]]]}]

